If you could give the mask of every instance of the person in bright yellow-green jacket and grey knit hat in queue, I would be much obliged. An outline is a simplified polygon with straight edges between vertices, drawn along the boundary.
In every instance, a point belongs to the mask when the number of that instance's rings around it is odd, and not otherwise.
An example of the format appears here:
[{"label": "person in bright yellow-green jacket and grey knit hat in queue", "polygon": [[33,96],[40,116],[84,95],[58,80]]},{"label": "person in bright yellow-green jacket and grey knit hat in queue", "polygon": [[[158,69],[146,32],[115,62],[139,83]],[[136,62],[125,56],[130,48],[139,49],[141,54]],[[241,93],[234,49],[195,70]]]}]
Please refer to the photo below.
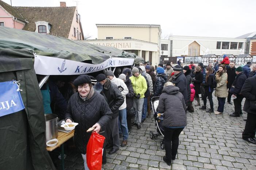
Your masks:
[{"label": "person in bright yellow-green jacket and grey knit hat in queue", "polygon": [[144,93],[148,86],[146,79],[140,74],[140,70],[138,68],[134,67],[131,72],[133,73],[133,76],[130,77],[130,80],[135,95],[133,98],[133,106],[136,110],[134,123],[137,124],[137,129],[141,129],[142,107],[145,97]]}]

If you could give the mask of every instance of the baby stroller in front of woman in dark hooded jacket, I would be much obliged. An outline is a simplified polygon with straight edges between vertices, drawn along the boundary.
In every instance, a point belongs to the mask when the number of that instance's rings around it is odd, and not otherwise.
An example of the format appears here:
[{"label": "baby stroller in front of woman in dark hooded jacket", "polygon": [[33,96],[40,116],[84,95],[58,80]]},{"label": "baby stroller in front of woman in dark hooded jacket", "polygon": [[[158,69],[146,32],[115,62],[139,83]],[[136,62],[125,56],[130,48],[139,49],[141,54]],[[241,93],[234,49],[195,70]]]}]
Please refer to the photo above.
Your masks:
[{"label": "baby stroller in front of woman in dark hooded jacket", "polygon": [[[149,132],[150,139],[154,139],[160,135],[162,135],[164,137],[164,128],[162,125],[164,118],[163,118],[163,116],[158,117],[157,111],[156,111],[158,102],[159,102],[159,97],[152,97],[151,106],[152,106],[152,111],[154,114],[154,120],[156,122],[156,130],[154,132],[153,131]],[[161,139],[163,139],[163,140],[160,142],[160,147],[161,147],[161,149],[164,149],[164,138],[161,138]]]}]

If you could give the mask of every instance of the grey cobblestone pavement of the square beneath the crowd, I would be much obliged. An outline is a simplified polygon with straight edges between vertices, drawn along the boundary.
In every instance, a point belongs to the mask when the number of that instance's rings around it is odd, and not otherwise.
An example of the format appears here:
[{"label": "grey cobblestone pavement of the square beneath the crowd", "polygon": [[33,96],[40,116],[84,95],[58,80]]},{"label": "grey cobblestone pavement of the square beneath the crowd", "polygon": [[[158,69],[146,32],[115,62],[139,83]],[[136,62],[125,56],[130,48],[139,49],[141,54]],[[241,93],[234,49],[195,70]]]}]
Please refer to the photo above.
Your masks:
[{"label": "grey cobblestone pavement of the square beneath the crowd", "polygon": [[[215,110],[217,104],[217,98],[214,97]],[[207,107],[210,107],[209,101]],[[178,153],[171,166],[163,161],[165,151],[160,147],[162,139],[152,140],[149,137],[149,131],[155,130],[154,119],[151,117],[147,118],[140,130],[133,126],[127,146],[120,147],[115,154],[108,154],[107,163],[102,169],[256,170],[256,145],[241,138],[247,113],[244,112],[238,118],[229,117],[234,111],[234,105],[228,103],[222,115],[205,113],[198,109],[199,106],[194,108],[194,113],[187,113],[188,124],[180,134]],[[60,161],[57,163],[60,164]],[[65,167],[66,170],[83,169],[80,154],[69,151]]]}]

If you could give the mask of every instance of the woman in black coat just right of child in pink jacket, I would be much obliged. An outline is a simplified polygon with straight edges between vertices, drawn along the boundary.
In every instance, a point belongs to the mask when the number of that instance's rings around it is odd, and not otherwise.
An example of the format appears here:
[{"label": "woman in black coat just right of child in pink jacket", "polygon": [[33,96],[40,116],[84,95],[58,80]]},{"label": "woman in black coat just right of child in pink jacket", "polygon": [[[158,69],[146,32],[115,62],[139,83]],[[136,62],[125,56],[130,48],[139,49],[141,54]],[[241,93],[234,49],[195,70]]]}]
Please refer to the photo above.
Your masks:
[{"label": "woman in black coat just right of child in pink jacket", "polygon": [[201,72],[199,66],[196,66],[194,76],[195,77],[193,78],[192,81],[195,86],[195,99],[197,101],[197,104],[195,106],[200,106],[199,94],[201,94],[201,83],[203,82],[203,73]]}]

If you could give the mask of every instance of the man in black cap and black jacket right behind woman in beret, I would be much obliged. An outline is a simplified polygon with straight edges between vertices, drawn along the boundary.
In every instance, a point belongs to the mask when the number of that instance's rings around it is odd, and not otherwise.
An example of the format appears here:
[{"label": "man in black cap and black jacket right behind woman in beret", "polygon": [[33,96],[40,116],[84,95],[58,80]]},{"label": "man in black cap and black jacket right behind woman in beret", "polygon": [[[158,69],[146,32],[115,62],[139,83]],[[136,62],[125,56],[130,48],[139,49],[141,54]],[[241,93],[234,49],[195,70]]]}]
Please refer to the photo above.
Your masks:
[{"label": "man in black cap and black jacket right behind woman in beret", "polygon": [[103,93],[105,94],[108,105],[113,112],[112,119],[107,126],[107,141],[110,145],[113,145],[112,149],[108,154],[114,154],[119,150],[119,129],[118,129],[118,116],[119,108],[125,101],[118,87],[111,83],[111,81],[106,78],[105,74],[99,74],[96,76],[97,82],[103,85]]}]

